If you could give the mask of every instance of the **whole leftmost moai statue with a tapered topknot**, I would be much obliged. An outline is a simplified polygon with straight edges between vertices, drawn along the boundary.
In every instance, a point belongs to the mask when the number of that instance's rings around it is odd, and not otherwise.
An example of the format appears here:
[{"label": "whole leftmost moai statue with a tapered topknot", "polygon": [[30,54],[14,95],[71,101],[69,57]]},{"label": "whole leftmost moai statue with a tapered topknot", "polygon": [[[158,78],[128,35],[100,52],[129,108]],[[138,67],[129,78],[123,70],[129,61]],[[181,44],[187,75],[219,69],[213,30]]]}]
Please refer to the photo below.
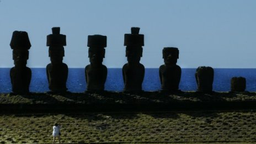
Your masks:
[{"label": "whole leftmost moai statue with a tapered topknot", "polygon": [[12,91],[17,94],[28,94],[31,81],[31,70],[26,67],[31,47],[28,33],[25,31],[14,31],[10,47],[13,49],[14,67],[10,69],[10,82]]}]

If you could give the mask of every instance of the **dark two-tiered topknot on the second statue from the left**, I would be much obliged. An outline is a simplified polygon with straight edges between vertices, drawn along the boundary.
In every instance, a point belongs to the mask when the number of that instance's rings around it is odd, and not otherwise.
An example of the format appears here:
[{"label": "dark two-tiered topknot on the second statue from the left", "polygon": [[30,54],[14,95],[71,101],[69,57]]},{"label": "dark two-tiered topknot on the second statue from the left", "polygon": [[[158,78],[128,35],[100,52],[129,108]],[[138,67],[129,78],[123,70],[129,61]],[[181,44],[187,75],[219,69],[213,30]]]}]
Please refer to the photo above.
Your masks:
[{"label": "dark two-tiered topknot on the second statue from the left", "polygon": [[60,34],[60,27],[52,28],[52,34],[47,35],[46,46],[66,46],[66,35]]}]

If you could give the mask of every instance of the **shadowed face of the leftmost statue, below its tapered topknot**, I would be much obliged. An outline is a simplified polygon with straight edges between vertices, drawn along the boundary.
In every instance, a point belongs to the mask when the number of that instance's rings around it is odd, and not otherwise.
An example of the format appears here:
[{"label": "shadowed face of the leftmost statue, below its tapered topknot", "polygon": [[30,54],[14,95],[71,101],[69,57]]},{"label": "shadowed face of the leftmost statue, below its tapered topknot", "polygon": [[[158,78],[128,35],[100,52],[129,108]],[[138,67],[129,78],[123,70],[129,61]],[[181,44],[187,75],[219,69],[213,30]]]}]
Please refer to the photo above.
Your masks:
[{"label": "shadowed face of the leftmost statue, below its tapered topknot", "polygon": [[13,50],[13,60],[15,66],[26,66],[26,60],[28,60],[28,58],[28,50]]}]

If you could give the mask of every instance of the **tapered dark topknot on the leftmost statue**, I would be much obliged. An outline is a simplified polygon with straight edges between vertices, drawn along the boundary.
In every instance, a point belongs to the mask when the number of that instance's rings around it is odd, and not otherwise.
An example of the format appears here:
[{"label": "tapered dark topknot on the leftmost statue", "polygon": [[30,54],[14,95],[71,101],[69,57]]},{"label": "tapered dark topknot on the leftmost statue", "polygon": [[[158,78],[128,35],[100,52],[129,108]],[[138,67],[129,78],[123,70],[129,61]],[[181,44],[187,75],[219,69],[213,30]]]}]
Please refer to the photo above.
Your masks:
[{"label": "tapered dark topknot on the leftmost statue", "polygon": [[10,47],[13,50],[29,50],[31,44],[28,33],[26,33],[26,31],[13,31]]}]

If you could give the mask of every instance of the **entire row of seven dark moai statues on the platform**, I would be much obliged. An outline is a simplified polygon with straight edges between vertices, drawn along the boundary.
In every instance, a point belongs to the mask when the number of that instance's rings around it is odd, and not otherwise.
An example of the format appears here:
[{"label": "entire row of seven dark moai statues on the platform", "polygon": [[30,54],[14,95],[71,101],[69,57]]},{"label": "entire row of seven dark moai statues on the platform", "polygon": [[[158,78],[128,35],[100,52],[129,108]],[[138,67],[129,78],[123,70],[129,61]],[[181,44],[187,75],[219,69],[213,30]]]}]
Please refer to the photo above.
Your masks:
[{"label": "entire row of seven dark moai statues on the platform", "polygon": [[[124,92],[142,92],[142,82],[145,75],[145,67],[140,63],[144,35],[139,34],[140,28],[131,28],[131,34],[124,35],[125,56],[127,63],[122,67],[124,79]],[[60,28],[52,28],[52,34],[47,35],[46,46],[49,46],[51,63],[46,66],[49,89],[52,93],[66,93],[68,66],[62,62],[65,56],[66,35],[60,34]],[[102,64],[105,57],[106,36],[88,36],[88,57],[90,65],[85,68],[85,76],[88,92],[103,92],[108,70]],[[31,47],[28,33],[14,31],[10,47],[13,49],[14,67],[10,69],[10,79],[13,93],[29,93],[31,70],[26,67]],[[177,65],[179,50],[176,47],[164,47],[164,65],[159,67],[161,92],[178,92],[182,69]],[[214,81],[214,69],[211,67],[199,67],[195,73],[198,92],[212,92]],[[246,89],[246,79],[234,77],[231,80],[231,91],[243,92]]]}]

